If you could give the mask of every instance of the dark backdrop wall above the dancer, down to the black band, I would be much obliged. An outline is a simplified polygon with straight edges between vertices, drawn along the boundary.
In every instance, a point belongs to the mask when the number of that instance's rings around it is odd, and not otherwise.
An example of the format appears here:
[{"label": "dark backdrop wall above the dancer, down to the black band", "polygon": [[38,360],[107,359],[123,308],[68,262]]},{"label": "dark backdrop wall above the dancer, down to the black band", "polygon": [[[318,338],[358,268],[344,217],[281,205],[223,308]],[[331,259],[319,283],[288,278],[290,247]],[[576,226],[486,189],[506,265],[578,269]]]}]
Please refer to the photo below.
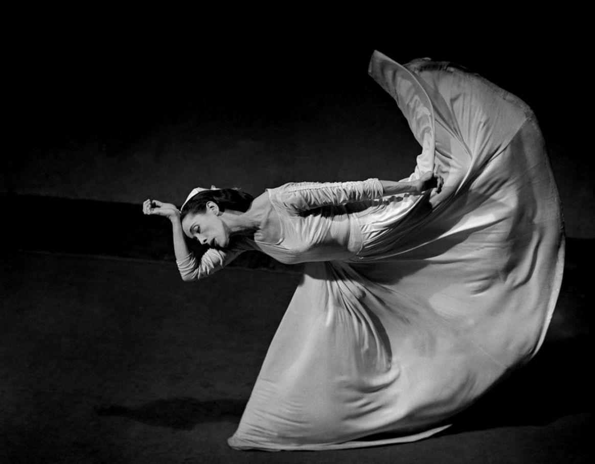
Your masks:
[{"label": "dark backdrop wall above the dancer, down to the black band", "polygon": [[419,10],[352,21],[236,13],[24,24],[8,50],[17,143],[0,192],[180,204],[197,185],[258,194],[287,181],[406,177],[419,148],[368,77],[378,49],[402,63],[456,62],[524,99],[546,138],[568,235],[595,236],[580,12],[434,12],[433,22]]}]

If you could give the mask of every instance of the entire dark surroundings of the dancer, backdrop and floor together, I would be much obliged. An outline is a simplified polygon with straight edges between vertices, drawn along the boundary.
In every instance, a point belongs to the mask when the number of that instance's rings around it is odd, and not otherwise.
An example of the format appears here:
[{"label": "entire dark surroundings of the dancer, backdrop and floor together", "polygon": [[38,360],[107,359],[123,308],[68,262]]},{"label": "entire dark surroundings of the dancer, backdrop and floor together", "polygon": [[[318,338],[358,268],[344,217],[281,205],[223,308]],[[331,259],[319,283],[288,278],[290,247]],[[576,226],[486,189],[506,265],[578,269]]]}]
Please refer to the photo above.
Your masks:
[{"label": "entire dark surroundings of the dancer, backdrop and floor together", "polygon": [[[322,17],[290,6],[7,11],[0,460],[591,462],[586,12],[415,4]],[[234,452],[226,438],[300,269],[245,253],[184,284],[171,227],[140,203],[180,204],[211,183],[259,193],[287,181],[405,177],[419,146],[367,75],[374,49],[402,63],[457,62],[536,112],[570,237],[552,324],[527,368],[438,437]]]}]

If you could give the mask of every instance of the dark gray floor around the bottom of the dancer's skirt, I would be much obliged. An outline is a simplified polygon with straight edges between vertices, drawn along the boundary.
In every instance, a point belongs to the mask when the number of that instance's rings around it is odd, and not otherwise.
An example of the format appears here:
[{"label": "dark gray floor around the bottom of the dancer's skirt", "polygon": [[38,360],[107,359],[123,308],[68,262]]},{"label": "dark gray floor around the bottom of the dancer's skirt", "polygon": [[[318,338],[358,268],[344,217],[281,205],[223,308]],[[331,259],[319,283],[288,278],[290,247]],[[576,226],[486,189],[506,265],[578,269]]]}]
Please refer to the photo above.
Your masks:
[{"label": "dark gray floor around the bottom of the dancer's skirt", "polygon": [[[569,264],[542,352],[449,432],[337,452],[227,447],[299,274],[6,253],[0,462],[587,462],[592,294]],[[592,300],[590,300],[592,301]],[[584,368],[581,368],[584,366]]]}]

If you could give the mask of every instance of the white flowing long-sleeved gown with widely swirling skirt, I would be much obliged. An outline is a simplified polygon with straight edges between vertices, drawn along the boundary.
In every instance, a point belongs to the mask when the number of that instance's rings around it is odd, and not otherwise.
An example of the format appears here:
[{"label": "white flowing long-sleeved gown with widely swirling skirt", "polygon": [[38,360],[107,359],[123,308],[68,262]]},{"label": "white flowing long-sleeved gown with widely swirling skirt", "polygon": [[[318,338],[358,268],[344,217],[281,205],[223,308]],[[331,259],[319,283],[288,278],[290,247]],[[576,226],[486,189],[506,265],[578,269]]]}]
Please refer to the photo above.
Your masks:
[{"label": "white flowing long-sleeved gown with widely swirling skirt", "polygon": [[422,146],[410,179],[443,192],[383,197],[377,180],[268,190],[278,243],[240,239],[178,262],[201,278],[258,249],[306,262],[256,380],[235,449],[324,450],[428,437],[535,355],[558,297],[560,203],[536,118],[445,62],[369,73]]}]

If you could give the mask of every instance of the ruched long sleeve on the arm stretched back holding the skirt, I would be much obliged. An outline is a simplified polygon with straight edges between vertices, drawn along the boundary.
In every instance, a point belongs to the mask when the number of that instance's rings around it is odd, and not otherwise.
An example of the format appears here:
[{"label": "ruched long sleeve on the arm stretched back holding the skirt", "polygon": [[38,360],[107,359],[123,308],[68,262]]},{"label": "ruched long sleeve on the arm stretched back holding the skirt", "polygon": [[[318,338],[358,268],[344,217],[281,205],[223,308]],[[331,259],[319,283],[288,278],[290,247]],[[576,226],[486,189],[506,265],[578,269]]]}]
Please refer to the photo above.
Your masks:
[{"label": "ruched long sleeve on the arm stretched back holding the skirt", "polygon": [[269,190],[286,211],[300,214],[322,206],[346,205],[383,196],[378,179],[350,182],[297,182]]}]

